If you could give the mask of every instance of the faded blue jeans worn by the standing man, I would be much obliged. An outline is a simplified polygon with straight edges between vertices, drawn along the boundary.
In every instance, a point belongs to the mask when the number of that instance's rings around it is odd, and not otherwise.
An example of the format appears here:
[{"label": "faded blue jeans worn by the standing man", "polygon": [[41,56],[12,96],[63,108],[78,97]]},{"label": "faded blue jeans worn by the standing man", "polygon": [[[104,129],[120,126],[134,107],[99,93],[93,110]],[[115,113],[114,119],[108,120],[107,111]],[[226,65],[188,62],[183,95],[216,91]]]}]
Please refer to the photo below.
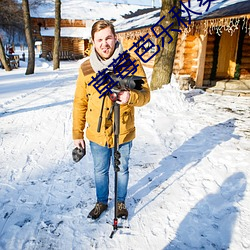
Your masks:
[{"label": "faded blue jeans worn by the standing man", "polygon": [[[128,161],[130,156],[130,149],[132,141],[119,145],[119,152],[121,153],[119,165],[120,171],[118,172],[118,192],[117,200],[124,202],[127,195],[129,170]],[[109,196],[109,168],[112,159],[114,162],[114,148],[102,147],[90,141],[91,153],[94,161],[94,175],[96,185],[97,202],[104,204],[108,203]]]}]

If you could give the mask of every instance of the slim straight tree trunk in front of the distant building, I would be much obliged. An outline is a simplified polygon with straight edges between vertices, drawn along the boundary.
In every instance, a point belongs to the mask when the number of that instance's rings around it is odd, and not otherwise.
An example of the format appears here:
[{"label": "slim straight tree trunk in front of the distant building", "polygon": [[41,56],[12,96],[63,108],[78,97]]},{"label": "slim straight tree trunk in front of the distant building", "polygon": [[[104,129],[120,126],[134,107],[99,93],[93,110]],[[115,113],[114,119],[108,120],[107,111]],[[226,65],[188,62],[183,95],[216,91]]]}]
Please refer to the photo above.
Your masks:
[{"label": "slim straight tree trunk in front of the distant building", "polygon": [[61,0],[55,1],[55,40],[53,50],[53,70],[60,68],[59,48],[61,33]]}]

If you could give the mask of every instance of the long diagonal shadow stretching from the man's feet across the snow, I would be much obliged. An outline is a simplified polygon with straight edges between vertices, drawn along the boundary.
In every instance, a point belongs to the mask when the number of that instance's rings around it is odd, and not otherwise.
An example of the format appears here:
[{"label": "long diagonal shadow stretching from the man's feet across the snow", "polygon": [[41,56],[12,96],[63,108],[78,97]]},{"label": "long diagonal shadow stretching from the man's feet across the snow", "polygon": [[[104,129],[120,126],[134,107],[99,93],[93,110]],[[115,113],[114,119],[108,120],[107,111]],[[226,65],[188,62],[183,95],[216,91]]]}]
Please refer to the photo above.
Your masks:
[{"label": "long diagonal shadow stretching from the man's feet across the snow", "polygon": [[[188,169],[195,167],[203,158],[205,158],[216,146],[226,142],[232,138],[239,139],[233,134],[235,129],[235,119],[229,119],[225,122],[218,123],[202,129],[198,134],[194,135],[183,143],[173,153],[161,160],[159,167],[148,173],[136,184],[128,189],[128,202],[138,203],[143,197],[149,195],[166,182],[174,173],[186,167]],[[159,145],[160,146],[160,145]],[[185,171],[185,172],[186,172]],[[184,173],[185,174],[185,173]],[[180,177],[179,177],[180,178]],[[176,180],[174,180],[176,181]],[[172,183],[174,182],[172,181]],[[156,199],[162,192],[166,190],[172,183],[165,184],[165,187],[155,192],[156,195],[135,212],[136,205],[133,204],[129,209],[130,216],[134,216],[150,202]],[[132,210],[133,209],[133,210]],[[132,211],[131,211],[132,210]]]}]

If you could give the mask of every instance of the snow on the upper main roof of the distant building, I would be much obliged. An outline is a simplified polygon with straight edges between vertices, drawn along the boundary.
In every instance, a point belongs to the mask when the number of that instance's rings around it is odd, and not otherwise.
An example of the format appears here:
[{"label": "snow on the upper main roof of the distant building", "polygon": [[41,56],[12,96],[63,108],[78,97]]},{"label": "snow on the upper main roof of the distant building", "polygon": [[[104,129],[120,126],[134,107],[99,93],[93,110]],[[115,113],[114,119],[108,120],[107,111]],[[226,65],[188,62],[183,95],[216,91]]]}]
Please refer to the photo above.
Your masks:
[{"label": "snow on the upper main roof of the distant building", "polygon": [[[119,19],[122,15],[135,12],[138,9],[150,8],[150,6],[132,4],[98,3],[91,0],[62,0],[61,2],[61,18],[71,20]],[[54,18],[55,4],[47,1],[37,9],[30,10],[30,13],[31,17]]]}]

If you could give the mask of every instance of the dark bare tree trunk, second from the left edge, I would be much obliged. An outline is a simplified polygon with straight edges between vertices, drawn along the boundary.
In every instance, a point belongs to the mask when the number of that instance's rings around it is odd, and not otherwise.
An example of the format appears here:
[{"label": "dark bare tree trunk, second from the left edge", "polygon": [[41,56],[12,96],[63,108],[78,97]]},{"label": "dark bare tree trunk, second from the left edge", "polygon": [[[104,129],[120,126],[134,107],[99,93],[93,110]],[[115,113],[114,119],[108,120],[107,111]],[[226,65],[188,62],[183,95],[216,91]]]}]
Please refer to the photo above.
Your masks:
[{"label": "dark bare tree trunk, second from the left edge", "polygon": [[32,37],[32,28],[31,28],[30,10],[29,10],[28,0],[22,0],[22,8],[23,8],[25,36],[26,36],[26,41],[28,44],[28,66],[27,66],[25,75],[30,75],[30,74],[34,74],[34,69],[35,69],[35,48],[34,48],[34,41]]}]

